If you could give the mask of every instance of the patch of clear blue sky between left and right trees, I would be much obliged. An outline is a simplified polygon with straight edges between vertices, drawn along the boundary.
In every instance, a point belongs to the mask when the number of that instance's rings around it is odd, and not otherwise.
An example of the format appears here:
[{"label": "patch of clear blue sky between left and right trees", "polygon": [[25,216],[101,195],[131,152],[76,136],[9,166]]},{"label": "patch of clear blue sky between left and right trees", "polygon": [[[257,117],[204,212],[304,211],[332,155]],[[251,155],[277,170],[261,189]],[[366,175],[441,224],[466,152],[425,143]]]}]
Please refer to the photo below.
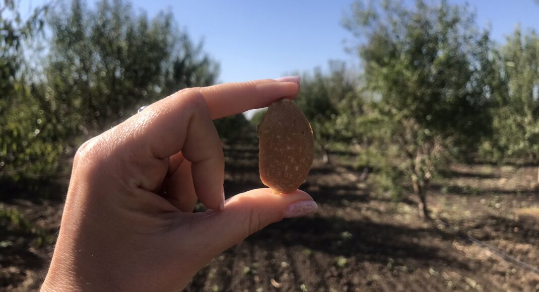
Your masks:
[{"label": "patch of clear blue sky between left and right trees", "polygon": [[[221,64],[220,80],[276,78],[353,61],[345,54],[348,36],[339,22],[350,1],[168,1],[178,22]],[[154,8],[154,9],[155,9]],[[157,9],[155,9],[157,10]]]}]

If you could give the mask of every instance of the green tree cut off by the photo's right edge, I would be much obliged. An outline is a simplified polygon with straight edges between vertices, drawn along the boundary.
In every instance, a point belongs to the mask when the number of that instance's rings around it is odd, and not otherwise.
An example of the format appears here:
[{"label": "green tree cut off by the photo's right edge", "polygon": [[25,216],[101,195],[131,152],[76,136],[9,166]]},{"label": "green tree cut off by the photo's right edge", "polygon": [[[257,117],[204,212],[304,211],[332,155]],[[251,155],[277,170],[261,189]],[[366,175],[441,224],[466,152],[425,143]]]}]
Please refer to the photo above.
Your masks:
[{"label": "green tree cut off by the photo's right edge", "polygon": [[[494,146],[501,156],[539,159],[539,36],[517,27],[501,47],[497,70],[505,81],[493,109]],[[539,169],[537,171],[539,183]]]}]

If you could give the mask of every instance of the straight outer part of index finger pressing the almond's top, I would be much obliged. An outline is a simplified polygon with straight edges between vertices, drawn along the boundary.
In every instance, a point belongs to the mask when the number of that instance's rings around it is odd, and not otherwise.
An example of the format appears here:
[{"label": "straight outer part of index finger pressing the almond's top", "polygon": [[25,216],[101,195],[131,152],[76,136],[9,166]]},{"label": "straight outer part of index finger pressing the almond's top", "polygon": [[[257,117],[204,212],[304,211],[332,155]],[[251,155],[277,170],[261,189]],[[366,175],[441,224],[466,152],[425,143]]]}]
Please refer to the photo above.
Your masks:
[{"label": "straight outer part of index finger pressing the almond's top", "polygon": [[215,120],[250,109],[267,107],[281,98],[294,99],[300,91],[300,78],[294,79],[224,83],[202,87],[200,92],[208,103],[211,119]]}]

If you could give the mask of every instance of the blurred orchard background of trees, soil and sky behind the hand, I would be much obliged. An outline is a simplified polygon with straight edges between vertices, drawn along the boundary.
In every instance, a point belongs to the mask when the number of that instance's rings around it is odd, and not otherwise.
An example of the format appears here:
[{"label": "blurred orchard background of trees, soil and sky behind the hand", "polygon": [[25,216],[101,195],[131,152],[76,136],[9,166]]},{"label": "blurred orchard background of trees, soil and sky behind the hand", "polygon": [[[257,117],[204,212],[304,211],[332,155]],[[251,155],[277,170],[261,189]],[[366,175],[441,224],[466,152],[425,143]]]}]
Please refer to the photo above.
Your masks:
[{"label": "blurred orchard background of trees, soil and sky behind the hand", "polygon": [[[299,74],[319,212],[186,291],[539,291],[537,15],[533,0],[0,0],[0,290],[39,289],[82,142],[185,87]],[[215,121],[227,197],[262,186],[263,115]]]}]

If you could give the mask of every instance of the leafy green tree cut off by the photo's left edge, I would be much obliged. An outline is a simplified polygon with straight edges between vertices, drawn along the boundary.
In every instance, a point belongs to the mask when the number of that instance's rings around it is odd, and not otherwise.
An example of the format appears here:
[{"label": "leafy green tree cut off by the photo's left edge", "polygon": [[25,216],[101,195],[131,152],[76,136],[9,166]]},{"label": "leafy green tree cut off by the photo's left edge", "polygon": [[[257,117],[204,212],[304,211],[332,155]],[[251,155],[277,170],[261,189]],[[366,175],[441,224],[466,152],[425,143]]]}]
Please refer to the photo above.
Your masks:
[{"label": "leafy green tree cut off by the photo's left edge", "polygon": [[17,1],[0,1],[0,177],[17,180],[54,168],[59,149],[49,143],[25,48],[43,27],[48,6],[23,19]]}]

